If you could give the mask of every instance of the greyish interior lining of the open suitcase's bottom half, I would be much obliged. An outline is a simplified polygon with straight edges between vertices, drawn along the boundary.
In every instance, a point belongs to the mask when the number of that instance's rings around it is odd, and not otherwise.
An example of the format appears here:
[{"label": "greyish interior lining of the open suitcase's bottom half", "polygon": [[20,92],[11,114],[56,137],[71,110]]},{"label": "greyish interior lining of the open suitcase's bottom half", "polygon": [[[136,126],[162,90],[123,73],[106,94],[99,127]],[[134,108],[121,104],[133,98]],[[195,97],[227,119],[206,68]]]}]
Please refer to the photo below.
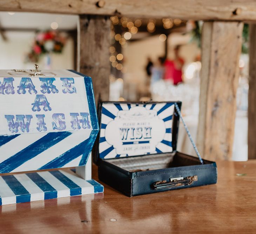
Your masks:
[{"label": "greyish interior lining of the open suitcase's bottom half", "polygon": [[200,165],[200,161],[197,158],[180,152],[115,158],[108,160],[108,162],[132,172],[178,166]]}]

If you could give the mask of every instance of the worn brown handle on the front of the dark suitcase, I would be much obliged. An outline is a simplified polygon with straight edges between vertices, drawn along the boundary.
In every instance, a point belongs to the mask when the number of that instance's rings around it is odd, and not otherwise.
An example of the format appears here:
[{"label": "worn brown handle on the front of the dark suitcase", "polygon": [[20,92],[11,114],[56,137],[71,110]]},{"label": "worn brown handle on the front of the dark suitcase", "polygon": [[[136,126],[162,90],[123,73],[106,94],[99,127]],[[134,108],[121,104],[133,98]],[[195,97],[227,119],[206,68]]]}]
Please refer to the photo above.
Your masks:
[{"label": "worn brown handle on the front of the dark suitcase", "polygon": [[185,185],[191,185],[194,181],[197,181],[197,175],[189,176],[186,178],[171,178],[169,182],[167,180],[156,181],[153,183],[153,188],[155,190],[165,189],[165,188],[177,188]]}]

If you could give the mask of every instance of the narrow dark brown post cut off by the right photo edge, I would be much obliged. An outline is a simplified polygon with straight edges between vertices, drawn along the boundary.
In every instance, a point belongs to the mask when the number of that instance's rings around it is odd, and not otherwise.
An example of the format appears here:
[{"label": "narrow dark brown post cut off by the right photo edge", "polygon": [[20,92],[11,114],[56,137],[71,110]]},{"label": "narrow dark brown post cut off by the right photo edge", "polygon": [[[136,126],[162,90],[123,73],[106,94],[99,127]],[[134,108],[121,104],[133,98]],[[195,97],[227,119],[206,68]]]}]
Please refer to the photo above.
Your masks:
[{"label": "narrow dark brown post cut off by the right photo edge", "polygon": [[256,25],[250,25],[249,95],[248,95],[248,159],[256,159]]}]

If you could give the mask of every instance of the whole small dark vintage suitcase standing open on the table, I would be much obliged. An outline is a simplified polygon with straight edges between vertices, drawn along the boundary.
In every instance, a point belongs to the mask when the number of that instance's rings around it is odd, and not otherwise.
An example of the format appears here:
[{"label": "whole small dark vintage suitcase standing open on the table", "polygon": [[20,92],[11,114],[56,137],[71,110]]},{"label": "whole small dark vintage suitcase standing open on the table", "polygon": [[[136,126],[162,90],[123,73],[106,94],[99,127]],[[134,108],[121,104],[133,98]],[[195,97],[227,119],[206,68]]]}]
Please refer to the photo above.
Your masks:
[{"label": "whole small dark vintage suitcase standing open on the table", "polygon": [[180,108],[178,101],[100,102],[99,179],[128,197],[215,184],[216,163],[202,160],[195,145],[198,158],[176,151]]}]

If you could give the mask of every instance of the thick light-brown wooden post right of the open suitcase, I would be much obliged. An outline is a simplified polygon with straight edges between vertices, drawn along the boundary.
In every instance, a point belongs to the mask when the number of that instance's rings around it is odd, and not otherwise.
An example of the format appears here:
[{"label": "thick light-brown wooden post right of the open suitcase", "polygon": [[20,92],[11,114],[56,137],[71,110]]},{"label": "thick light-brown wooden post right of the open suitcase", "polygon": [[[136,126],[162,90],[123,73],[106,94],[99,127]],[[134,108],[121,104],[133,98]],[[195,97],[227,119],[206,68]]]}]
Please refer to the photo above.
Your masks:
[{"label": "thick light-brown wooden post right of the open suitcase", "polygon": [[243,23],[205,22],[197,145],[205,159],[231,160]]}]

